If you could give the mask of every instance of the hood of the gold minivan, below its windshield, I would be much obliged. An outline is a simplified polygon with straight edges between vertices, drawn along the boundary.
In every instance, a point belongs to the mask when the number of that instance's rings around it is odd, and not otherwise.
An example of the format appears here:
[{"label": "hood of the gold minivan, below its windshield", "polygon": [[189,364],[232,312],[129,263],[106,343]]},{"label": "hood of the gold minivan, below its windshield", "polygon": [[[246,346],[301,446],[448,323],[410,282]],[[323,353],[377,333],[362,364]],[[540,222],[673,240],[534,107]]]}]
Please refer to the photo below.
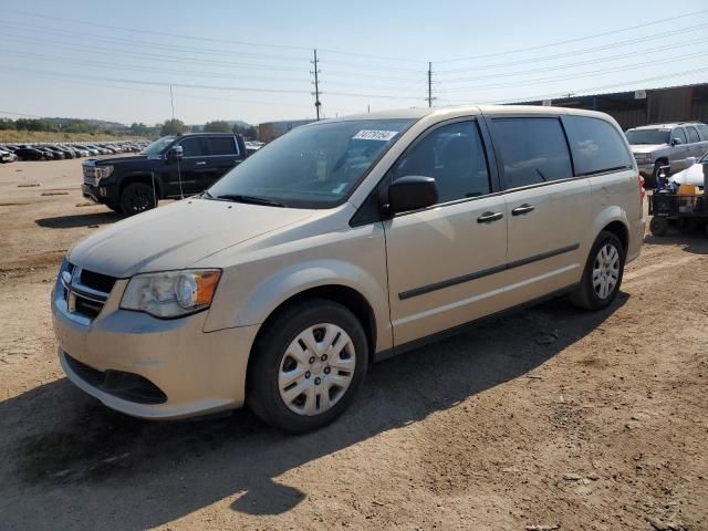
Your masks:
[{"label": "hood of the gold minivan, below its windshield", "polygon": [[69,260],[116,278],[184,269],[228,247],[303,221],[312,212],[184,199],[124,219],[81,240],[70,251]]}]

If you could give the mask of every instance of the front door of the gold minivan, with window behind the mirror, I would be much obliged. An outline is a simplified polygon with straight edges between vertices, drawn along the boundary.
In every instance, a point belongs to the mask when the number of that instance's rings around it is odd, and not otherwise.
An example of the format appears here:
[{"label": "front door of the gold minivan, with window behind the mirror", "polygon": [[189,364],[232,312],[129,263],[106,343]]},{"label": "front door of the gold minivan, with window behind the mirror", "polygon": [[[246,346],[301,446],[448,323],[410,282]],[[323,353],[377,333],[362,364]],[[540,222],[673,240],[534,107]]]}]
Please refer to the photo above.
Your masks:
[{"label": "front door of the gold minivan, with window behind the mirror", "polygon": [[384,221],[397,346],[503,309],[506,205],[482,134],[475,119],[439,124],[387,176],[434,177],[439,194],[435,207]]}]

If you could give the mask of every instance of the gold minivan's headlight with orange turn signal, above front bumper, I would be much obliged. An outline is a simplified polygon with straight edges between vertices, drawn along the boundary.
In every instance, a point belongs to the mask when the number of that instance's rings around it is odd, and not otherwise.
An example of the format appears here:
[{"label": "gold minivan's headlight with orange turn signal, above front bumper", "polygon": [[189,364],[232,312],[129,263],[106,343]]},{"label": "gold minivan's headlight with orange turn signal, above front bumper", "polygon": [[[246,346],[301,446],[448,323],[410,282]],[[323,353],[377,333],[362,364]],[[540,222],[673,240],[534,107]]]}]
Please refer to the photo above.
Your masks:
[{"label": "gold minivan's headlight with orange turn signal, above front bumper", "polygon": [[128,282],[121,308],[156,317],[178,317],[211,304],[221,277],[218,269],[136,274]]}]

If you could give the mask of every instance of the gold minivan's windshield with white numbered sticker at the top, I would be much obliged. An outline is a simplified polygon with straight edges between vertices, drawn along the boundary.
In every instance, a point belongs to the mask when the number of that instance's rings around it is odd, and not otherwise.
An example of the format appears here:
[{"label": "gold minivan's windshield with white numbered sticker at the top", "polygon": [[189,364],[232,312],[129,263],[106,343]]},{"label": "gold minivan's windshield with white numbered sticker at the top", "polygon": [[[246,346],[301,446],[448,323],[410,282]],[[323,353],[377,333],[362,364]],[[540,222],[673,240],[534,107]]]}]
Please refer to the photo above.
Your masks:
[{"label": "gold minivan's windshield with white numbered sticker at the top", "polygon": [[333,207],[413,122],[322,122],[295,128],[235,167],[209,189],[209,196],[246,196],[295,208]]}]

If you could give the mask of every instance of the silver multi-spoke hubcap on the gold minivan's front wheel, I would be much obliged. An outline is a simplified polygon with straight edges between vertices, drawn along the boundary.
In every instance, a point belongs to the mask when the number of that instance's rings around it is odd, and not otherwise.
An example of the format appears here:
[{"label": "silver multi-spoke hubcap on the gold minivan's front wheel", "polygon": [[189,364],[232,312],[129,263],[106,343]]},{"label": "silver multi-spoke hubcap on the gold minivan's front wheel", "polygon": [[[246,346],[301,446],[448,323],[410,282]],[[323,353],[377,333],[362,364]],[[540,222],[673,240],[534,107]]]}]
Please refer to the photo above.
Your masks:
[{"label": "silver multi-spoke hubcap on the gold minivan's front wheel", "polygon": [[354,343],[335,324],[322,323],[298,334],[278,372],[280,397],[298,415],[320,415],[346,393],[356,367]]}]

